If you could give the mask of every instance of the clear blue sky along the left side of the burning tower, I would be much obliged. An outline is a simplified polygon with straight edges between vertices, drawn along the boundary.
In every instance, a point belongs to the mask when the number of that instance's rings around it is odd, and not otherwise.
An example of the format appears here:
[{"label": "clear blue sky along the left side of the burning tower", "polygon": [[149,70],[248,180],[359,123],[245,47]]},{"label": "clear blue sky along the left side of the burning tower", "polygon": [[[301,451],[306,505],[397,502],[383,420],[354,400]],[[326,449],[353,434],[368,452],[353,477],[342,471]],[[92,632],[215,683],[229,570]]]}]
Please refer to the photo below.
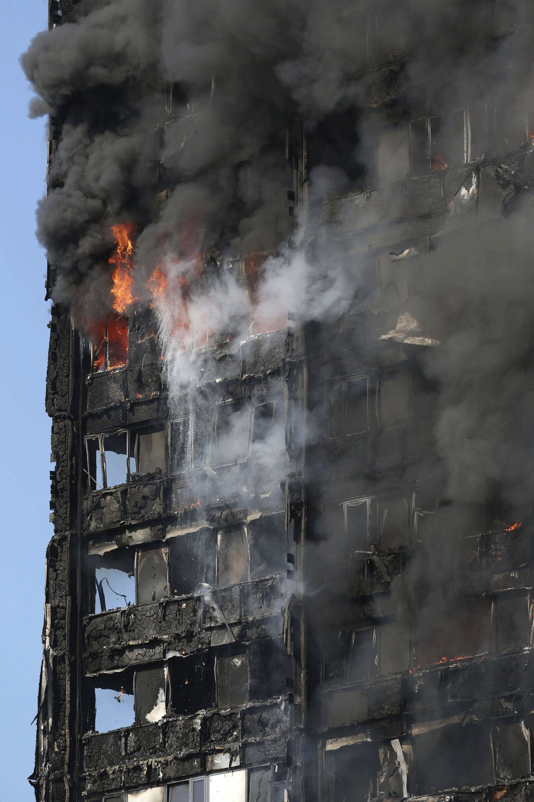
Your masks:
[{"label": "clear blue sky along the left side of the burning tower", "polygon": [[26,777],[34,764],[42,604],[50,496],[50,420],[44,411],[49,319],[47,263],[34,237],[45,191],[47,136],[30,120],[30,89],[18,56],[47,26],[47,0],[2,5],[2,488],[0,593],[0,802],[34,802]]}]

